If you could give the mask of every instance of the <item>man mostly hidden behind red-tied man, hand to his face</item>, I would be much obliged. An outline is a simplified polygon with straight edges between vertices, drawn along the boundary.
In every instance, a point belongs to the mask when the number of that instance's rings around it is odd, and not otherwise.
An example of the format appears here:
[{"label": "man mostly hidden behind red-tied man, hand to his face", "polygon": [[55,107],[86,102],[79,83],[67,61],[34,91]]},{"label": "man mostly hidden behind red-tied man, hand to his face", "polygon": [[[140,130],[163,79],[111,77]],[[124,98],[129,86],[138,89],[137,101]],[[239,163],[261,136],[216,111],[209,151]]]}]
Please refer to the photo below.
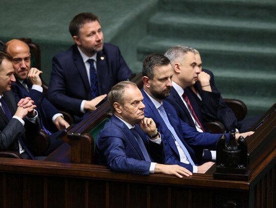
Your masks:
[{"label": "man mostly hidden behind red-tied man, hand to his face", "polygon": [[214,74],[202,68],[200,54],[195,50],[195,57],[200,74],[198,81],[190,84],[187,90],[192,92],[193,97],[200,106],[205,122],[220,121],[226,132],[246,132],[254,128],[254,125],[261,118],[261,115],[245,118],[238,121],[233,110],[227,106],[221,97],[221,93],[215,85]]}]

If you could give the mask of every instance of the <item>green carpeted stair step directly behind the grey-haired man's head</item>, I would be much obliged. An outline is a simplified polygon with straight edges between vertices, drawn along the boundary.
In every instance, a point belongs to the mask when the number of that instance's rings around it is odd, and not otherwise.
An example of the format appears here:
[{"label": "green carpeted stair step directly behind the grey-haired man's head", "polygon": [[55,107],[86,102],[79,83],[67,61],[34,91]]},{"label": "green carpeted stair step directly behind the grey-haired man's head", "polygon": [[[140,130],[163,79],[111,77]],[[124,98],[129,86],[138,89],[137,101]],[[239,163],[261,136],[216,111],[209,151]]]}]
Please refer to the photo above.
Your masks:
[{"label": "green carpeted stair step directly behind the grey-haired man's head", "polygon": [[[147,36],[139,42],[137,58],[142,61],[152,53],[164,54],[174,45],[188,45],[200,52],[203,65],[207,68],[243,68],[244,72],[262,70],[275,72],[276,47],[242,44],[224,41],[195,39],[169,39]],[[265,62],[265,67],[264,67]]]}]

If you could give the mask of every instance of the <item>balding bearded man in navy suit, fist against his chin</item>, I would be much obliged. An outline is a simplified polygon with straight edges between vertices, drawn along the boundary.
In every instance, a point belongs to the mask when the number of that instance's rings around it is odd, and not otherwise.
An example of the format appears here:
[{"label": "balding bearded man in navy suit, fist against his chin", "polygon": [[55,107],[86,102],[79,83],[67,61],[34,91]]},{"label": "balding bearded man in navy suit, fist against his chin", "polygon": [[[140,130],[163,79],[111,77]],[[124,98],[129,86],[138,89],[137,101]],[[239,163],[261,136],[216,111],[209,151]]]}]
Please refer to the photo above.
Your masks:
[{"label": "balding bearded man in navy suit, fist against his chin", "polygon": [[56,140],[56,136],[69,124],[47,98],[44,98],[42,81],[39,77],[42,71],[31,67],[31,54],[28,45],[21,40],[13,39],[5,44],[4,50],[13,59],[16,82],[12,84],[12,91],[17,100],[26,97],[34,100],[39,114],[38,123],[40,123],[41,129],[49,134],[50,146],[44,153],[48,155],[63,143],[62,140]]}]

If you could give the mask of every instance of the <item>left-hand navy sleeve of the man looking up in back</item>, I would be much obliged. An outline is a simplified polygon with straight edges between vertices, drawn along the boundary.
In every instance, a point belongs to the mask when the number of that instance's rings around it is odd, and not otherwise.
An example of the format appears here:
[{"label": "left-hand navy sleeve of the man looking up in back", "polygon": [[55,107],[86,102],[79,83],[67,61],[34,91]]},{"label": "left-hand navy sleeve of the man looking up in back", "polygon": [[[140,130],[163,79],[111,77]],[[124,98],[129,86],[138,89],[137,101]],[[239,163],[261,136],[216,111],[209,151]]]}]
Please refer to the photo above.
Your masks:
[{"label": "left-hand navy sleeve of the man looking up in back", "polygon": [[[48,99],[58,109],[62,109],[74,114],[79,112],[79,115],[81,115],[82,113],[80,112],[80,106],[82,99],[77,99],[66,95],[66,79],[64,77],[64,70],[66,69],[63,67],[58,57],[54,57],[51,79],[49,82]],[[74,83],[71,84],[74,85]]]}]

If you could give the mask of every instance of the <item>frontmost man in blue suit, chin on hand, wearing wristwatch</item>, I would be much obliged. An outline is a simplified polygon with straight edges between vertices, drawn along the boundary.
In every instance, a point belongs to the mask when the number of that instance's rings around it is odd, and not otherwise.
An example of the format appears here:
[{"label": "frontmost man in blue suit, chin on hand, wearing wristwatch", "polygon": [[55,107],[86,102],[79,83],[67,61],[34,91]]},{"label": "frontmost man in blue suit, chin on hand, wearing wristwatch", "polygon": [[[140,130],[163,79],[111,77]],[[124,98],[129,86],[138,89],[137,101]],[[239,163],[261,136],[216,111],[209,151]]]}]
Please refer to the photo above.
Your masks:
[{"label": "frontmost man in blue suit, chin on hand, wearing wristwatch", "polygon": [[124,173],[163,173],[180,178],[192,175],[178,165],[154,163],[163,163],[162,138],[154,121],[145,118],[142,101],[142,93],[133,82],[123,81],[112,87],[108,102],[113,115],[98,135],[97,163]]}]

